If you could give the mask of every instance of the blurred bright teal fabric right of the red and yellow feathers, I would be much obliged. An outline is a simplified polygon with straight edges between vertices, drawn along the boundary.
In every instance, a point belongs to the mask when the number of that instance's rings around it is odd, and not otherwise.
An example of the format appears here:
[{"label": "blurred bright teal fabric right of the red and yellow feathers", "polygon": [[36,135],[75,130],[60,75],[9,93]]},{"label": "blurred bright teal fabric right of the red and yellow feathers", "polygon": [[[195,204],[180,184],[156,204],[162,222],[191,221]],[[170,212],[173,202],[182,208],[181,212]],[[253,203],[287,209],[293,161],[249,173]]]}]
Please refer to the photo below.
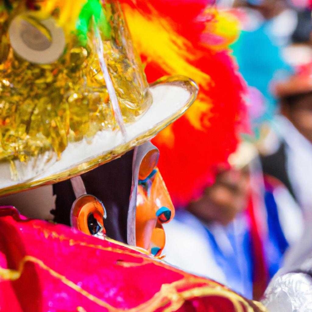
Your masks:
[{"label": "blurred bright teal fabric right of the red and yellow feathers", "polygon": [[283,45],[271,33],[271,23],[266,21],[254,31],[242,31],[232,45],[233,56],[247,84],[264,96],[264,114],[251,120],[255,130],[263,121],[272,119],[277,109],[277,101],[270,90],[271,80],[285,78],[292,73],[291,67],[282,60]]}]

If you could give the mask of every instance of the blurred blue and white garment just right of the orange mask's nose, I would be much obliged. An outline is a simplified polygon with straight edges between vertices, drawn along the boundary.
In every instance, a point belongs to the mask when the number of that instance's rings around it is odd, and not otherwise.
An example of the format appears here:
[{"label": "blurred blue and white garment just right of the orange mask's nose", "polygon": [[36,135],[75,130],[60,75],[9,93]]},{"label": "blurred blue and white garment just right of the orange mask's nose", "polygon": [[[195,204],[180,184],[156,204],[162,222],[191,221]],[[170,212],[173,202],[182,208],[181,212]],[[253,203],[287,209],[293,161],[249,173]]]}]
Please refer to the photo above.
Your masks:
[{"label": "blurred blue and white garment just right of the orange mask's nose", "polygon": [[205,276],[252,298],[252,252],[244,214],[224,227],[203,224],[191,213],[179,210],[165,224],[165,260],[185,271]]}]

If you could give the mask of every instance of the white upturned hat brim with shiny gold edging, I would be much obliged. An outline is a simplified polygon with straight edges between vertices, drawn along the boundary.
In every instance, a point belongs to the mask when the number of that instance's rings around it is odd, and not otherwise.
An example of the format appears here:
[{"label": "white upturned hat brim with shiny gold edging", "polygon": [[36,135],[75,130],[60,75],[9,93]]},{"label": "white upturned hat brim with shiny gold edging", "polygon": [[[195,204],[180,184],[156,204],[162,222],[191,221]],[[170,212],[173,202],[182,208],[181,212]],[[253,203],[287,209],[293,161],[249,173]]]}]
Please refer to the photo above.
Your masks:
[{"label": "white upturned hat brim with shiny gold edging", "polygon": [[[83,139],[69,143],[60,160],[43,170],[43,173],[24,181],[12,180],[10,163],[1,162],[0,196],[60,182],[119,157],[153,138],[161,129],[178,119],[194,102],[198,88],[189,78],[173,76],[156,81],[149,90],[153,103],[137,121],[125,125],[126,140],[120,131],[103,130],[95,134],[91,141]],[[29,167],[29,174],[33,174]],[[25,176],[27,169],[24,169]]]}]

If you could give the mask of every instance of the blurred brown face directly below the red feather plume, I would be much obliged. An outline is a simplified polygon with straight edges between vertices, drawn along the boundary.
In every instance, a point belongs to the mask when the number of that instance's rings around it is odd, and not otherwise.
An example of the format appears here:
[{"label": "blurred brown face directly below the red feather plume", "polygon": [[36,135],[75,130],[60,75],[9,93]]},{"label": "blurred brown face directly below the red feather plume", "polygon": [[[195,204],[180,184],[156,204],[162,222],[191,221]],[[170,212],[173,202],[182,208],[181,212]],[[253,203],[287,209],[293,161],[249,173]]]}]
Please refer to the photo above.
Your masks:
[{"label": "blurred brown face directly below the red feather plume", "polygon": [[246,171],[223,171],[217,175],[216,182],[205,189],[200,199],[189,204],[188,210],[206,222],[227,225],[246,209],[248,186]]}]

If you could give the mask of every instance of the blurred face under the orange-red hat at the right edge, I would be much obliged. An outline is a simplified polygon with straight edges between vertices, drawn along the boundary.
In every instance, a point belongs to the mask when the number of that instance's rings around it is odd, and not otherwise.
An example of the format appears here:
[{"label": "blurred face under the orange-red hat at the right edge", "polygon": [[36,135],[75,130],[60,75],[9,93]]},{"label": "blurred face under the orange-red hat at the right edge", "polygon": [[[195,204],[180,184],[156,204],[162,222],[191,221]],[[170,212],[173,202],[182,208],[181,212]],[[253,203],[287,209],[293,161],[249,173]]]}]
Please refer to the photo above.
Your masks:
[{"label": "blurred face under the orange-red hat at the right edge", "polygon": [[283,103],[282,113],[312,143],[312,92],[300,96],[292,104]]}]

